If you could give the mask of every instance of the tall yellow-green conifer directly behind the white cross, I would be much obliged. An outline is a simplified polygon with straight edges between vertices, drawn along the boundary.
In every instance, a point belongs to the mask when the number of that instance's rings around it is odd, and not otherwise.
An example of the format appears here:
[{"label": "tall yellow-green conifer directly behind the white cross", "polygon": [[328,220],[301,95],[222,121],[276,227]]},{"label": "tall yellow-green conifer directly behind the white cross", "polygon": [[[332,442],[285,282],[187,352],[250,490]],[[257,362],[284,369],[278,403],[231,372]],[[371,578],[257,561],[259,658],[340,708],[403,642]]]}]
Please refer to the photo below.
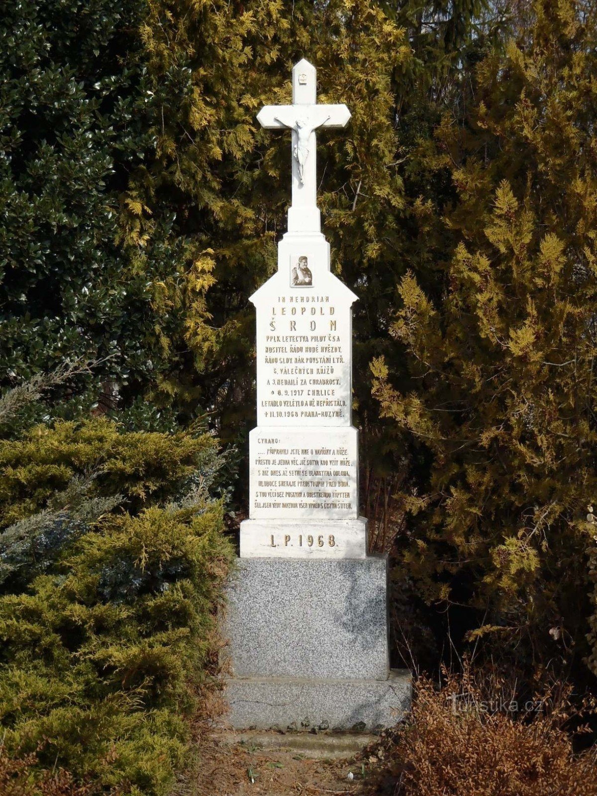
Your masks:
[{"label": "tall yellow-green conifer directly behind the white cross", "polygon": [[165,350],[176,345],[175,313],[204,374],[186,363],[152,398],[184,400],[190,381],[228,434],[253,405],[238,400],[254,378],[248,296],[275,270],[290,195],[290,140],[259,127],[259,108],[291,101],[291,68],[302,57],[318,68],[319,101],[349,106],[341,135],[318,135],[318,201],[334,265],[352,281],[365,264],[392,257],[401,191],[392,76],[410,48],[371,0],[149,0],[141,35],[157,149],[154,162],[131,171],[122,240],[133,269],[145,271],[158,219],[177,213],[172,236],[189,235],[189,257],[150,290]]}]

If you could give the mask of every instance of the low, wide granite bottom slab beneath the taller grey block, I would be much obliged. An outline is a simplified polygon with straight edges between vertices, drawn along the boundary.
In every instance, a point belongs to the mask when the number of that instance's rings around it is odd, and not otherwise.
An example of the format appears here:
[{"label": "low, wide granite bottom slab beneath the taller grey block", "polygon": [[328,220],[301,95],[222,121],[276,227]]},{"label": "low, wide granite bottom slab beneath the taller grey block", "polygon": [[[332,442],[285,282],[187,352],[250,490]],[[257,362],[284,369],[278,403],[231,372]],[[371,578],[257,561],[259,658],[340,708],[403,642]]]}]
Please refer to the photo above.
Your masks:
[{"label": "low, wide granite bottom slab beneath the taller grey block", "polygon": [[388,680],[232,678],[226,721],[236,729],[373,730],[391,727],[408,711],[411,676],[392,669]]}]

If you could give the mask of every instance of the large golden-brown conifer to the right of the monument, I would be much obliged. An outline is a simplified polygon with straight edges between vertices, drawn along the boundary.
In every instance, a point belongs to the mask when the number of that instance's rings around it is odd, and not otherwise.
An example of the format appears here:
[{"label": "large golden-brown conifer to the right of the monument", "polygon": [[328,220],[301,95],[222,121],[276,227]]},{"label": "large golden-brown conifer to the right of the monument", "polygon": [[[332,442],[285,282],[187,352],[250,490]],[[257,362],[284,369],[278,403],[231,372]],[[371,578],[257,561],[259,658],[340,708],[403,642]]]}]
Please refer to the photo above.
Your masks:
[{"label": "large golden-brown conifer to the right of the monument", "polygon": [[373,362],[382,415],[430,463],[408,569],[428,599],[458,584],[520,654],[568,661],[587,632],[597,490],[596,22],[535,2],[479,65],[465,118],[440,123],[425,151],[455,187],[451,251],[435,287],[414,268],[400,283],[410,384]]}]

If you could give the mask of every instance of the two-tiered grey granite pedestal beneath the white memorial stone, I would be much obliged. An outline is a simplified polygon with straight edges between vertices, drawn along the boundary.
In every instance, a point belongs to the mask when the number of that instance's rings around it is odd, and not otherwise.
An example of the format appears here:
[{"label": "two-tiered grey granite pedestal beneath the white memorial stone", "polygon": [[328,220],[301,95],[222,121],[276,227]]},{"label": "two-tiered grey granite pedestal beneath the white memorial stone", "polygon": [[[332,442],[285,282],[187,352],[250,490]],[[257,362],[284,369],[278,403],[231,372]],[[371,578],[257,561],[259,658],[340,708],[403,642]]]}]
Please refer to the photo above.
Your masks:
[{"label": "two-tiered grey granite pedestal beneath the white memorial stone", "polygon": [[396,724],[410,677],[390,671],[387,560],[239,559],[228,585],[235,728]]}]

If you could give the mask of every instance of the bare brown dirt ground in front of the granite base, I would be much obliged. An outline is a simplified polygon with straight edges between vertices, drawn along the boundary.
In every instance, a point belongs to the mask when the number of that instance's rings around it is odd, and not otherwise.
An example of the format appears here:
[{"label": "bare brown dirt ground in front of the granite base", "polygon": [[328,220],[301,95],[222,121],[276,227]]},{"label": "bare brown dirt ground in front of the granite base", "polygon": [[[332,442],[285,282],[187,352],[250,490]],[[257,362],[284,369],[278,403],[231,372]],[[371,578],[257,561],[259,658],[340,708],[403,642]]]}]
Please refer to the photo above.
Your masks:
[{"label": "bare brown dirt ground in front of the granite base", "polygon": [[[299,736],[306,747],[302,747]],[[188,783],[186,792],[192,796],[399,794],[400,775],[384,759],[384,737],[358,736],[357,744],[362,740],[370,743],[356,753],[354,748],[337,748],[338,744],[344,746],[345,740],[345,736],[334,739],[333,733],[320,733],[317,738],[309,733],[294,737],[291,733],[271,732],[251,736],[204,728],[193,782]],[[271,748],[271,743],[276,746]]]}]

